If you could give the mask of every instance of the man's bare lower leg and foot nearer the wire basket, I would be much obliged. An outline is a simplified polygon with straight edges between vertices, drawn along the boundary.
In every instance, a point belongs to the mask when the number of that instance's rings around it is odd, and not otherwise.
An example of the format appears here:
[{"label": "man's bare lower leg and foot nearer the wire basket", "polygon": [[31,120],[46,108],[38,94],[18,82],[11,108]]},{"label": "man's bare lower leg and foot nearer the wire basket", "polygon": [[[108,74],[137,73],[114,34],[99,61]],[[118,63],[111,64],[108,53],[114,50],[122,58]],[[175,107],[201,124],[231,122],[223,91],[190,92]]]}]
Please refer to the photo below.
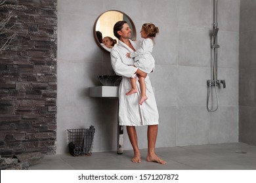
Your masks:
[{"label": "man's bare lower leg and foot nearer the wire basket", "polygon": [[133,152],[134,152],[134,156],[131,159],[131,161],[133,161],[133,163],[140,163],[140,150],[139,150],[139,146],[138,146],[138,141],[137,141],[137,132],[135,129],[135,126],[127,126],[127,133],[131,142],[131,145],[133,146]]}]

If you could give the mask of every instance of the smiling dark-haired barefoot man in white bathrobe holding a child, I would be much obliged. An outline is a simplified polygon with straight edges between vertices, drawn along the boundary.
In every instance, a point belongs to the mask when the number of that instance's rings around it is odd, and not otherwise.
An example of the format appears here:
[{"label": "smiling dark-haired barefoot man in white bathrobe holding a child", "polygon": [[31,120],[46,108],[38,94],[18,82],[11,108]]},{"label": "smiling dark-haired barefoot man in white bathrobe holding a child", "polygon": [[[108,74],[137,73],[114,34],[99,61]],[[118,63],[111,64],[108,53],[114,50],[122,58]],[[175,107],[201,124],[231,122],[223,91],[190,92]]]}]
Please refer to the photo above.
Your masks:
[{"label": "smiling dark-haired barefoot man in white bathrobe holding a child", "polygon": [[[133,67],[134,59],[126,57],[127,52],[134,52],[139,44],[131,41],[131,29],[125,21],[119,21],[114,25],[114,35],[119,41],[111,50],[111,63],[115,73],[123,76],[119,86],[119,125],[126,125],[127,127],[127,133],[134,150],[134,157],[131,161],[140,163],[140,150],[135,126],[148,125],[148,155],[146,160],[165,164],[166,162],[155,154],[159,116],[150,79],[146,73]],[[133,95],[125,95],[131,90],[129,78],[137,77],[137,75],[145,78],[147,86],[148,99],[143,105],[139,105],[140,90]],[[139,89],[138,81],[137,86]]]}]

